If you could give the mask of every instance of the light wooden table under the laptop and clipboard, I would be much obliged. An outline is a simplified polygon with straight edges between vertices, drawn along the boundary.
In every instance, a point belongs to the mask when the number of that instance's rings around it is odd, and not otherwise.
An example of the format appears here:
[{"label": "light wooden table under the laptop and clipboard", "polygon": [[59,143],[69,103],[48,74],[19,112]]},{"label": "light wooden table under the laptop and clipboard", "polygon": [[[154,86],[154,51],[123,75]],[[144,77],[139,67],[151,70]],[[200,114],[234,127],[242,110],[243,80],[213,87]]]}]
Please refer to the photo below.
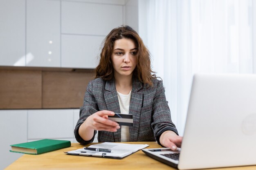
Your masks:
[{"label": "light wooden table under the laptop and clipboard", "polygon": [[[150,146],[148,148],[161,147],[156,142],[125,143],[149,144]],[[146,156],[141,150],[123,159],[74,156],[66,155],[64,153],[83,147],[84,146],[80,144],[72,144],[69,148],[55,150],[40,155],[25,154],[5,170],[177,170]],[[214,170],[256,170],[256,166],[218,168]]]}]

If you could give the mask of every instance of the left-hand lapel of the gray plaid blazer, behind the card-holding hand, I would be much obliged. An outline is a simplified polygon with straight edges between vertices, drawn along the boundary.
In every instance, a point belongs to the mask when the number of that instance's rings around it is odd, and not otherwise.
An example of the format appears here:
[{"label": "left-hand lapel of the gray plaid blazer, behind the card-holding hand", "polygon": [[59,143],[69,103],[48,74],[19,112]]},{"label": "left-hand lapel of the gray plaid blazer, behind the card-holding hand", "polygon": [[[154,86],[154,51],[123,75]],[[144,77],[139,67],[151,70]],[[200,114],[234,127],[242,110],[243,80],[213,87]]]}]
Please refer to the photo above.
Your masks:
[{"label": "left-hand lapel of the gray plaid blazer, behind the card-holding hand", "polygon": [[[120,106],[117,97],[115,80],[106,81],[104,98],[109,111],[120,113]],[[121,142],[121,128],[114,133],[115,142]]]}]

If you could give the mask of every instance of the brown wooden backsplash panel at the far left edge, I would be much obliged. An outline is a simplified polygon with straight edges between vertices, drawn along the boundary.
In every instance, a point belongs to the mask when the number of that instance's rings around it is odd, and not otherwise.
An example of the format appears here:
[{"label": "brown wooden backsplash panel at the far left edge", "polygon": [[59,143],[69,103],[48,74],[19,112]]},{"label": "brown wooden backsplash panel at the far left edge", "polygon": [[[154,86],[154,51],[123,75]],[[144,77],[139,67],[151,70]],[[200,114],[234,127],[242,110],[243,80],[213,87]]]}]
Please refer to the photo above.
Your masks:
[{"label": "brown wooden backsplash panel at the far left edge", "polygon": [[0,109],[42,108],[42,71],[0,70]]}]

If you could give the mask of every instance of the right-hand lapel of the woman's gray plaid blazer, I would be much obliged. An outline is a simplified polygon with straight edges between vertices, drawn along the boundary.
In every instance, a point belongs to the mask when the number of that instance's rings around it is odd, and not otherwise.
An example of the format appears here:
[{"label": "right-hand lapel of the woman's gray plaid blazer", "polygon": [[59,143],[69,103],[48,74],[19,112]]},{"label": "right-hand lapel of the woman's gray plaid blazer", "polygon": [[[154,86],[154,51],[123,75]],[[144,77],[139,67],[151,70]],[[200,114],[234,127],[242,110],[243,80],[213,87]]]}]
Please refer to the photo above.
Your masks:
[{"label": "right-hand lapel of the woman's gray plaid blazer", "polygon": [[132,93],[130,99],[129,114],[133,117],[133,126],[129,127],[130,141],[137,141],[139,133],[139,120],[141,113],[141,106],[143,102],[143,94],[138,91],[142,88],[142,83],[138,79],[132,80]]}]

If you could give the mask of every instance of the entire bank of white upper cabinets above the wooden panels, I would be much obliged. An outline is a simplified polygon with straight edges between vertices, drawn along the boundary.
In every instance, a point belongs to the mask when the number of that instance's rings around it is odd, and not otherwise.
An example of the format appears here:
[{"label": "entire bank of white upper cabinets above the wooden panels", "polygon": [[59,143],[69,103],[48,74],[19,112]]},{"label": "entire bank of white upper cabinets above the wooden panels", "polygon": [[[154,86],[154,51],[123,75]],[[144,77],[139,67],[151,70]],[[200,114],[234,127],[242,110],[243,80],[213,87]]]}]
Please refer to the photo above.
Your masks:
[{"label": "entire bank of white upper cabinets above the wooden panels", "polygon": [[[137,31],[137,0],[1,0],[0,66],[95,68],[115,27]],[[75,44],[75,45],[73,45]]]}]

